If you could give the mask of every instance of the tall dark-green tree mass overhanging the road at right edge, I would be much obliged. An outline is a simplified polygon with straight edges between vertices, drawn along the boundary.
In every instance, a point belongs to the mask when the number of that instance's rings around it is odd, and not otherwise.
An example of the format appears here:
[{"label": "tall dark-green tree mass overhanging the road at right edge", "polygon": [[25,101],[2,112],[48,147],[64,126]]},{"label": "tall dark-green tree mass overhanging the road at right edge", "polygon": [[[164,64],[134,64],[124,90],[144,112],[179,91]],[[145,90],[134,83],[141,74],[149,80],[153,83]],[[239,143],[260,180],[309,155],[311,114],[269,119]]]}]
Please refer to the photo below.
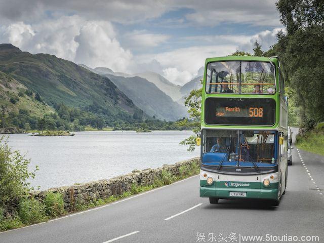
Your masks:
[{"label": "tall dark-green tree mass overhanging the road at right edge", "polygon": [[275,49],[302,111],[301,126],[311,130],[324,120],[324,2],[279,0],[277,8],[286,32],[278,33]]}]

